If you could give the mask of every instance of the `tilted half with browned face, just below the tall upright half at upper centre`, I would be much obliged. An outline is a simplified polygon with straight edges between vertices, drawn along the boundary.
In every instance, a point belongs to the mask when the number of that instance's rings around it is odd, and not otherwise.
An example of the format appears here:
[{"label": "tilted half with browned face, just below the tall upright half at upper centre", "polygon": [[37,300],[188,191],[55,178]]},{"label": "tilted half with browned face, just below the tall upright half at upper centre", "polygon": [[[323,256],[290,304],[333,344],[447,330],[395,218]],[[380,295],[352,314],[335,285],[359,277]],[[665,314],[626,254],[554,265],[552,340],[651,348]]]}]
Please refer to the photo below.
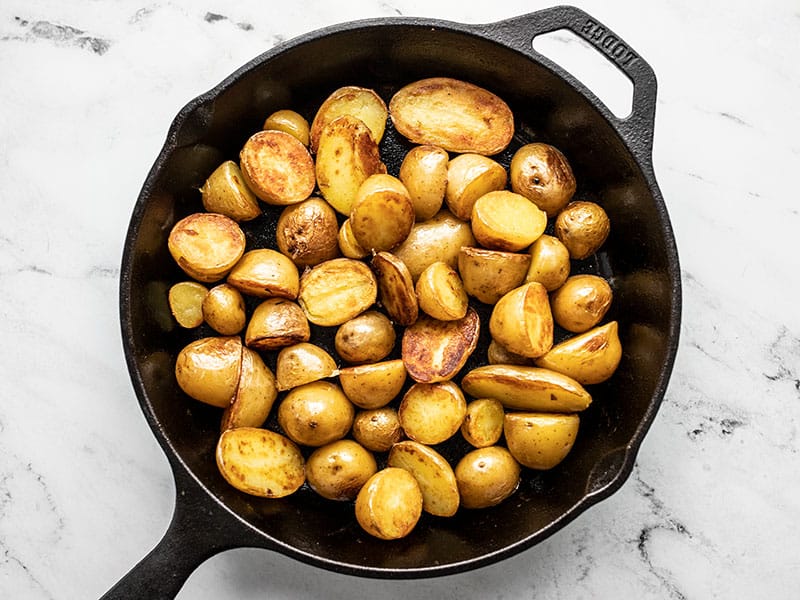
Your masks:
[{"label": "tilted half with browned face, just below the tall upright half at upper centre", "polygon": [[370,175],[359,186],[350,227],[359,246],[380,252],[399,246],[414,225],[414,206],[403,183],[391,175]]}]

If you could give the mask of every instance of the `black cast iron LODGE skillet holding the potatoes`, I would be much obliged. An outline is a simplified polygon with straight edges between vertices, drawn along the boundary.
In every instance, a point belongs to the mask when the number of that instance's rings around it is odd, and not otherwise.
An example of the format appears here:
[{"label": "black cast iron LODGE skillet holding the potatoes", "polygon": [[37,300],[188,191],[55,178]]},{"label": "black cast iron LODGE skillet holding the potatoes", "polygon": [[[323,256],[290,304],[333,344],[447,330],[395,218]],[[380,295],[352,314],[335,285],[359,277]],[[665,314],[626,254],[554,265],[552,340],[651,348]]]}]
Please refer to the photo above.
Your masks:
[{"label": "black cast iron LODGE skillet holding the potatoes", "polygon": [[[592,43],[633,82],[628,118],[613,116],[532,49],[536,35],[563,28]],[[310,119],[341,85],[371,87],[388,100],[402,85],[429,76],[469,80],[500,95],[514,111],[517,135],[497,159],[507,165],[520,144],[550,142],[571,161],[576,196],[605,207],[611,236],[574,272],[611,281],[608,318],[620,322],[624,355],[614,377],[593,386],[594,402],[559,467],[526,472],[518,492],[497,508],[461,510],[450,519],[423,515],[409,537],[386,543],[360,530],[350,504],[308,489],[262,500],[223,481],[214,461],[220,411],[188,399],[173,375],[177,352],[212,332],[173,325],[166,291],[185,277],[166,237],[179,218],[202,210],[197,188],[224,159],[236,159],[265,115],[292,107]],[[134,207],[120,281],[125,356],[142,410],[172,465],[175,512],[164,538],[104,598],[172,598],[202,561],[245,546],[365,577],[461,572],[529,548],[616,491],[656,415],[678,345],[678,255],[651,157],[655,105],[647,63],[596,19],[564,6],[488,25],[415,18],[337,25],[266,52],[184,107]],[[389,127],[382,152],[390,173],[397,173],[408,147]],[[275,215],[267,212],[247,225],[249,243],[271,243]],[[330,348],[330,336],[322,343]],[[486,344],[484,336],[467,368],[485,356]],[[454,443],[443,452],[452,459],[464,450]]]}]

